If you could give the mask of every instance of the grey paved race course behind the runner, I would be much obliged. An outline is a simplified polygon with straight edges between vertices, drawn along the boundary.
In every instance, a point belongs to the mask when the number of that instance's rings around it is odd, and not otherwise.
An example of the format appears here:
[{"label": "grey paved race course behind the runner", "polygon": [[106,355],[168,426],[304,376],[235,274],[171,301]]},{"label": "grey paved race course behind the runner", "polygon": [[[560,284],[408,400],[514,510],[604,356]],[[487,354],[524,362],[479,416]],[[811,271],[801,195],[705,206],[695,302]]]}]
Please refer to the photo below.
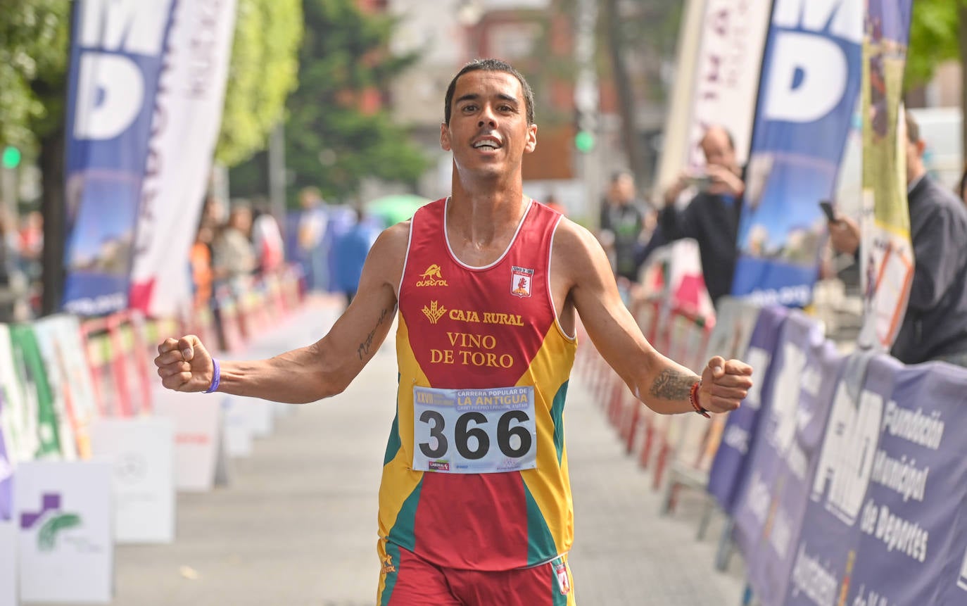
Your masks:
[{"label": "grey paved race course behind the runner", "polygon": [[[298,314],[266,334],[259,355],[307,345],[332,306]],[[376,492],[396,398],[395,332],[344,393],[293,406],[229,483],[178,497],[177,539],[119,546],[117,606],[372,604],[378,574]],[[578,603],[698,606],[740,603],[738,558],[713,566],[721,520],[694,539],[700,503],[683,492],[659,516],[651,476],[626,456],[602,411],[575,379],[566,412]]]}]

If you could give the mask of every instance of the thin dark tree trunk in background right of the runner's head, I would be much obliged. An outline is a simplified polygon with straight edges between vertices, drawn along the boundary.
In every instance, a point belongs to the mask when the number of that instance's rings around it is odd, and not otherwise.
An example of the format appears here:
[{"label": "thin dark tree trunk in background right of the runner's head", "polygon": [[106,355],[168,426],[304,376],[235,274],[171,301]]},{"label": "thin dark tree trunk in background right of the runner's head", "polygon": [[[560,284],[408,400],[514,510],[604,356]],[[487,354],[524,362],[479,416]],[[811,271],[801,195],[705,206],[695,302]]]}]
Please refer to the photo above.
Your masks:
[{"label": "thin dark tree trunk in background right of the runner's head", "polygon": [[611,59],[611,76],[614,78],[618,93],[622,138],[628,154],[629,167],[640,188],[645,185],[648,178],[648,165],[635,120],[634,89],[631,86],[628,65],[625,62],[626,44],[622,35],[621,15],[618,14],[618,0],[607,0],[601,10],[604,18],[604,36],[607,38],[608,55]]}]

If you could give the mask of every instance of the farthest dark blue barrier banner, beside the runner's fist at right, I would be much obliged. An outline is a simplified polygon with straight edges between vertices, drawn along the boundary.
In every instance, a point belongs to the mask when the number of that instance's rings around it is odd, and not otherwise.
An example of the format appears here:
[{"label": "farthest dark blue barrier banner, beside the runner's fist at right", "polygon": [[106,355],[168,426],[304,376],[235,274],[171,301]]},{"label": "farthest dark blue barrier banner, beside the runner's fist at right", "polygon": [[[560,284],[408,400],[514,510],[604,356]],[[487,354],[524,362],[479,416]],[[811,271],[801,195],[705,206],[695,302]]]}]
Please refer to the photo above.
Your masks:
[{"label": "farthest dark blue barrier banner, beside the runner's fist at right", "polygon": [[775,382],[773,360],[782,325],[788,311],[785,307],[768,306],[759,311],[758,320],[748,341],[745,360],[755,370],[752,389],[738,410],[728,414],[722,441],[709,472],[709,493],[729,515],[746,478],[747,463],[758,446],[759,419],[766,413],[763,407],[772,402]]}]

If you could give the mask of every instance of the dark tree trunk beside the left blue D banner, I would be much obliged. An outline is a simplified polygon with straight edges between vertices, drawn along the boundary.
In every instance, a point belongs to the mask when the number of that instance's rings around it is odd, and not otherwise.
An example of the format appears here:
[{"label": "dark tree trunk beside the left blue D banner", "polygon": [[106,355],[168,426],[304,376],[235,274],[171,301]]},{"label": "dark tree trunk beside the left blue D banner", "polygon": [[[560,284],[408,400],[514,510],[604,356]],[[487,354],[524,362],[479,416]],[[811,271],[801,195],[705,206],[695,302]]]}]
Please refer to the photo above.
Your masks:
[{"label": "dark tree trunk beside the left blue D banner", "polygon": [[42,315],[58,311],[64,294],[64,239],[67,236],[64,135],[64,129],[60,128],[41,139],[40,164],[44,188],[41,198],[41,213],[44,215]]}]

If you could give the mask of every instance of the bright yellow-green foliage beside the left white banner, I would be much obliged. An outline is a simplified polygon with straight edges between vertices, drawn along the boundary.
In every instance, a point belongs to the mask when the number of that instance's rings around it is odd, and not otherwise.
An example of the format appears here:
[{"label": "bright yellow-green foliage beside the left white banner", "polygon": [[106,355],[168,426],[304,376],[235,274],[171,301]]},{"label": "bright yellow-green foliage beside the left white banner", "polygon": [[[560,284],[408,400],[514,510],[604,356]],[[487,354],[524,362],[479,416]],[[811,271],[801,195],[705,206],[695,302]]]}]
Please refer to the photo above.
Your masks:
[{"label": "bright yellow-green foliage beside the left white banner", "polygon": [[298,84],[301,0],[238,0],[216,158],[234,166],[264,149]]}]

